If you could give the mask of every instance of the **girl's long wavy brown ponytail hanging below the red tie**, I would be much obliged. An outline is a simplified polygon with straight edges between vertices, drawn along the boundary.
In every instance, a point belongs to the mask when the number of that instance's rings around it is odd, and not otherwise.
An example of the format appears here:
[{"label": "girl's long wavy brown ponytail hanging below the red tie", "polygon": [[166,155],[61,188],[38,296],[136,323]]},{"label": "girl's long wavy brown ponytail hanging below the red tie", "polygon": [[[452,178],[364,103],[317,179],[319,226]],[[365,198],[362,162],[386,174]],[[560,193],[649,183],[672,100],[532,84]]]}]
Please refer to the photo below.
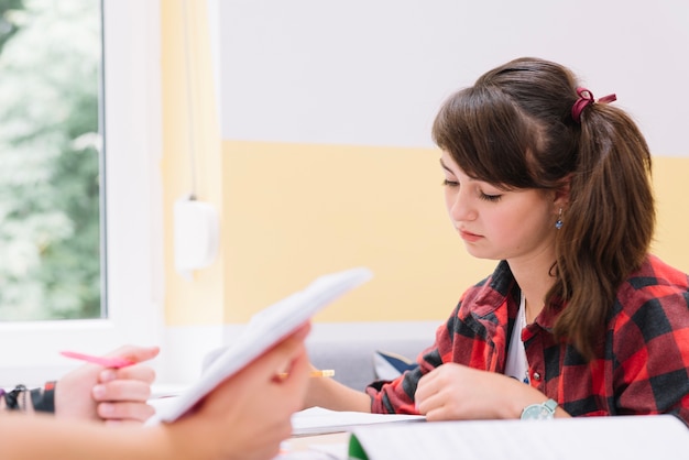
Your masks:
[{"label": "girl's long wavy brown ponytail hanging below the red tie", "polygon": [[567,300],[556,337],[592,359],[591,338],[604,337],[617,288],[646,258],[655,207],[650,153],[634,121],[609,105],[587,106],[567,224],[556,241],[557,282],[547,298]]}]

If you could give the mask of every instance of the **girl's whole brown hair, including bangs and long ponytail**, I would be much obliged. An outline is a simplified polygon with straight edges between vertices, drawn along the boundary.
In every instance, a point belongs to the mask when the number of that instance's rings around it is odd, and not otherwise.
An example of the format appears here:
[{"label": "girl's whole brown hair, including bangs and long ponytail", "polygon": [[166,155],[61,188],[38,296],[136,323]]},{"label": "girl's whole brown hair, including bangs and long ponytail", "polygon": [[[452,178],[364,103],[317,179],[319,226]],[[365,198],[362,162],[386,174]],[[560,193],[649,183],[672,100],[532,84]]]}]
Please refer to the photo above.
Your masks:
[{"label": "girl's whole brown hair, including bangs and long ponytail", "polygon": [[559,64],[514,59],[453,94],[433,138],[480,180],[542,190],[571,180],[546,308],[567,303],[554,332],[592,359],[617,288],[646,258],[655,205],[638,128],[608,103],[589,105],[575,121],[577,86]]}]

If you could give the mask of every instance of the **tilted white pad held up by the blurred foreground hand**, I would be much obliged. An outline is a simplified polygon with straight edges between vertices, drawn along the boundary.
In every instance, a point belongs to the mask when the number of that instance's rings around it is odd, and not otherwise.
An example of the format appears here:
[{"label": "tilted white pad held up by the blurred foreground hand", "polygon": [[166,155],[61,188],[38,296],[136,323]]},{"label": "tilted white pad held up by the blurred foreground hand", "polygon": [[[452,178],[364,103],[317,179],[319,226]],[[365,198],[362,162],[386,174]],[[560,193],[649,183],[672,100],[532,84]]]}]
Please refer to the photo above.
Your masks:
[{"label": "tilted white pad held up by the blurred foreground hand", "polygon": [[196,383],[175,397],[174,403],[161,407],[152,423],[177,419],[222,381],[295,331],[318,310],[372,276],[372,272],[365,267],[322,275],[303,291],[259,311],[237,341],[206,369]]}]

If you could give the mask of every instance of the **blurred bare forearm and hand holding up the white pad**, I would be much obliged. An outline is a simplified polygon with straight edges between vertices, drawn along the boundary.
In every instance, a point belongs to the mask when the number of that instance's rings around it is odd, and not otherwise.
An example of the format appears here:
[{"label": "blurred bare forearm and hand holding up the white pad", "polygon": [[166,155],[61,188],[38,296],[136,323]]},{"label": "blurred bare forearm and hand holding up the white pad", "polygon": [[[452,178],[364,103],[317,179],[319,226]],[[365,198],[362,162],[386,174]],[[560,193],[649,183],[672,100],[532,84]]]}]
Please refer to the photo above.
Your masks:
[{"label": "blurred bare forearm and hand holding up the white pad", "polygon": [[[2,458],[272,459],[292,432],[308,380],[305,325],[216,387],[193,413],[171,424],[105,427],[10,413],[0,416]],[[278,372],[288,370],[288,375]]]}]

